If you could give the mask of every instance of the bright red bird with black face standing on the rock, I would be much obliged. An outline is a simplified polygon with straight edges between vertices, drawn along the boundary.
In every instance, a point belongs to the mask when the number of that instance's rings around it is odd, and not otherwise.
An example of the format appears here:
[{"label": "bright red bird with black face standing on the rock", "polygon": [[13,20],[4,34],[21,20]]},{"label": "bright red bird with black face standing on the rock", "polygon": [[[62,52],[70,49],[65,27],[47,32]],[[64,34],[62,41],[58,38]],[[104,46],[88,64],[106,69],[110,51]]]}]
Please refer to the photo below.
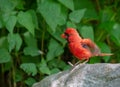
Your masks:
[{"label": "bright red bird with black face standing on the rock", "polygon": [[89,60],[93,56],[110,56],[112,54],[101,53],[98,46],[90,39],[82,39],[76,29],[67,28],[62,34],[68,42],[71,53],[79,60]]}]

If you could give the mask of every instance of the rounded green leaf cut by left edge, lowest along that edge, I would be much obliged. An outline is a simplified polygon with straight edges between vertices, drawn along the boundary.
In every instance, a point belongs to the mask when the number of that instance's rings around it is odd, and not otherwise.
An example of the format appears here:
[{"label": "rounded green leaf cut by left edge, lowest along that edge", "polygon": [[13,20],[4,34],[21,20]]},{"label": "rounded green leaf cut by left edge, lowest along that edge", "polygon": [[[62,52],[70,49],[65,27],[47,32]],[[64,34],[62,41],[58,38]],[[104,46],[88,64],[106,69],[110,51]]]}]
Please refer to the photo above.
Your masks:
[{"label": "rounded green leaf cut by left edge, lowest along that edge", "polygon": [[0,49],[0,63],[6,63],[11,60],[11,56],[6,49]]}]

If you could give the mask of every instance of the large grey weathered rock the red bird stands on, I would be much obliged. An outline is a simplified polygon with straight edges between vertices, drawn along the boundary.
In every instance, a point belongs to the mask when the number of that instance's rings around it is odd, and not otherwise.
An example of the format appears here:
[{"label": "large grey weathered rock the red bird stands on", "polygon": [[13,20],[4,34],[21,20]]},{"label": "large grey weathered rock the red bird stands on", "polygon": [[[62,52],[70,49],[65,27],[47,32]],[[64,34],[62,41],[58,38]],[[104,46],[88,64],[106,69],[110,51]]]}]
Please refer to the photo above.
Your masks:
[{"label": "large grey weathered rock the red bird stands on", "polygon": [[80,64],[33,87],[120,87],[120,64]]}]

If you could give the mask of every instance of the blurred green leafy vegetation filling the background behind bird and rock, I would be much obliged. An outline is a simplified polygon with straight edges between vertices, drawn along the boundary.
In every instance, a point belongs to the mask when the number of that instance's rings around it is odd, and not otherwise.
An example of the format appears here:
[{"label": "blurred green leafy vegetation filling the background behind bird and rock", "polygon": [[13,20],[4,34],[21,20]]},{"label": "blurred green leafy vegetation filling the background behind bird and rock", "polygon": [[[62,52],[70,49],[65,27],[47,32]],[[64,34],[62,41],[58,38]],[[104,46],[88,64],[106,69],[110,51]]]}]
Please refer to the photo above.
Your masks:
[{"label": "blurred green leafy vegetation filling the background behind bird and rock", "polygon": [[31,87],[75,63],[61,34],[76,28],[120,62],[120,0],[0,0],[0,85]]}]

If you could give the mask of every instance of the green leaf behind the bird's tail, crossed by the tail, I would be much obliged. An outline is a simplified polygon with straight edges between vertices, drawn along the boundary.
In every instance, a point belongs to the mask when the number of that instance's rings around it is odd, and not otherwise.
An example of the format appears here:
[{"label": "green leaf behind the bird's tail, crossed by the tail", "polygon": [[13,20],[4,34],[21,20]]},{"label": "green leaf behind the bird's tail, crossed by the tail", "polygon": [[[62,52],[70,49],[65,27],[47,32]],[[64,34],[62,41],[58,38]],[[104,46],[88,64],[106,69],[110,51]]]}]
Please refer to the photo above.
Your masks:
[{"label": "green leaf behind the bird's tail, crossed by the tail", "polygon": [[[102,53],[111,53],[111,50],[107,44],[102,43],[102,42],[99,42],[97,44],[98,44],[99,48],[101,49]],[[105,62],[108,62],[110,59],[110,56],[104,56],[103,59]]]}]

